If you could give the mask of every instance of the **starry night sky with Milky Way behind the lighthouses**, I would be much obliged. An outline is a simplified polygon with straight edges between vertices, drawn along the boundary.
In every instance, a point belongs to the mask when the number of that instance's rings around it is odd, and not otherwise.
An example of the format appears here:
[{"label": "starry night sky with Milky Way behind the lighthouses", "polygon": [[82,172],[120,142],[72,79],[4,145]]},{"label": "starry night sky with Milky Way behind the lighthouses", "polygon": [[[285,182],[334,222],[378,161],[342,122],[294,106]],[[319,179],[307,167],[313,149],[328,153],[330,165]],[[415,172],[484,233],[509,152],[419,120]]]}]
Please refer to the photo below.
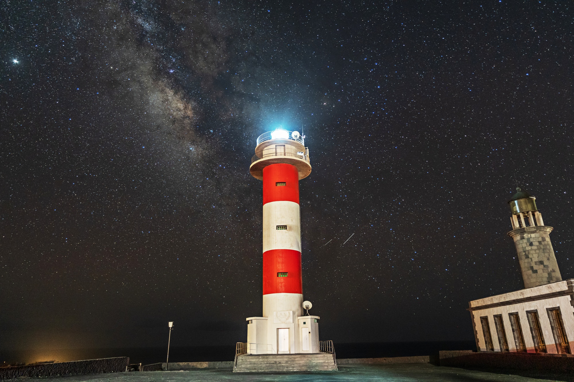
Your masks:
[{"label": "starry night sky with Milky Way behind the lighthouses", "polygon": [[567,1],[0,12],[2,349],[164,346],[168,321],[173,345],[245,341],[262,309],[249,164],[278,126],[304,131],[313,166],[303,290],[322,340],[472,340],[468,301],[523,287],[517,185],[574,277]]}]

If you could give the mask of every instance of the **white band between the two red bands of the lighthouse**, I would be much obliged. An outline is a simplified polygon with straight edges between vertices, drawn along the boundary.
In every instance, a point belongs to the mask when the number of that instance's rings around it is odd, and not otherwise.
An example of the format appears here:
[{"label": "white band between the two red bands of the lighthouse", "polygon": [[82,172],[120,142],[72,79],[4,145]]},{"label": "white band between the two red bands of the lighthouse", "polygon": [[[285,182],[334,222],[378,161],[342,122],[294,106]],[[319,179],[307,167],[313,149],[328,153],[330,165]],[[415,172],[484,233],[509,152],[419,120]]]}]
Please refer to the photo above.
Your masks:
[{"label": "white band between the two red bands of the lighthouse", "polygon": [[[286,225],[287,229],[277,229]],[[301,252],[299,205],[292,201],[274,201],[263,205],[263,252],[295,250]]]}]

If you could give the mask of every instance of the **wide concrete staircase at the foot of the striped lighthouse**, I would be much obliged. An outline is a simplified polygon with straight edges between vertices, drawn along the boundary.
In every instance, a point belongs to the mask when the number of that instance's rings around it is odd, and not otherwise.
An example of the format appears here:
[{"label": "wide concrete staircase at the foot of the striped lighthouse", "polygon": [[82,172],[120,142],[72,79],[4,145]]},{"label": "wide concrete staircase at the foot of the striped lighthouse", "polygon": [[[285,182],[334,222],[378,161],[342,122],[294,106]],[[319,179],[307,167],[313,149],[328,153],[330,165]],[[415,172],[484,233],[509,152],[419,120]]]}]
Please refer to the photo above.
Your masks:
[{"label": "wide concrete staircase at the foot of the striped lighthouse", "polygon": [[234,372],[336,371],[330,353],[242,354],[237,356]]}]

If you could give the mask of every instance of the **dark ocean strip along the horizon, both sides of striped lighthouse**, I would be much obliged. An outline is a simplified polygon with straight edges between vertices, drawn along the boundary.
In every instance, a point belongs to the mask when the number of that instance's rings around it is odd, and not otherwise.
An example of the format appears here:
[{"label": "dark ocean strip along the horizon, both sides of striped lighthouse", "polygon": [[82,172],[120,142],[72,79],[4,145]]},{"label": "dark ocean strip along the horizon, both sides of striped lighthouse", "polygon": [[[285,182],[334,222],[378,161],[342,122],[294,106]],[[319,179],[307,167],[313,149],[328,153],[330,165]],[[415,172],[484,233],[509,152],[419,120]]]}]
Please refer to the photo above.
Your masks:
[{"label": "dark ocean strip along the horizon, both sides of striped lighthouse", "polygon": [[[474,341],[433,342],[366,342],[335,343],[337,358],[375,358],[428,356],[439,350],[475,350]],[[76,361],[93,358],[130,357],[131,364],[165,362],[166,347],[160,348],[104,348],[104,349],[45,349],[0,350],[0,364],[37,361]],[[232,361],[235,346],[173,346],[169,350],[170,362]]]}]

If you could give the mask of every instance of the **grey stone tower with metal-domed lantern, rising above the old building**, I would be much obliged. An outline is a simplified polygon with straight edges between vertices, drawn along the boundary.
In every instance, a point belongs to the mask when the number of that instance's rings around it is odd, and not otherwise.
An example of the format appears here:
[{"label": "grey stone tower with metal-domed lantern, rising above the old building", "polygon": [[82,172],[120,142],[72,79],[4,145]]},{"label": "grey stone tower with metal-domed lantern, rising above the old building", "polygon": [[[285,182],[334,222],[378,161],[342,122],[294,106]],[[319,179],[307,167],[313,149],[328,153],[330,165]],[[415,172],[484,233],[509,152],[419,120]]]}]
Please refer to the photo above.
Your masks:
[{"label": "grey stone tower with metal-domed lantern, rising above the old building", "polygon": [[552,227],[544,225],[536,208],[536,198],[521,188],[508,202],[512,216],[512,231],[507,233],[514,240],[518,262],[525,288],[562,280],[554,248],[550,242]]}]

